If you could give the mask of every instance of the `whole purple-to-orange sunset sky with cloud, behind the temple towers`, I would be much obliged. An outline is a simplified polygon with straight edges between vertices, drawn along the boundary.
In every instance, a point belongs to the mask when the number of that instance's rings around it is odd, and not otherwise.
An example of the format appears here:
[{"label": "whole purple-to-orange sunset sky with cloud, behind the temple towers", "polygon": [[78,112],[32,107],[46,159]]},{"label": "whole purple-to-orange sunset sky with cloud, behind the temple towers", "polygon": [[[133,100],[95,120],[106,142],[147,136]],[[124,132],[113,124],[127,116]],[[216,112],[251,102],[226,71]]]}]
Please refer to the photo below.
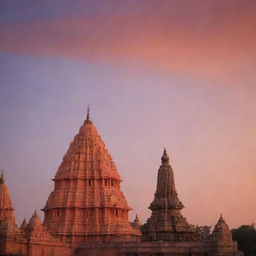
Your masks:
[{"label": "whole purple-to-orange sunset sky with cloud, behind the temple towers", "polygon": [[[256,222],[254,0],[2,0],[0,169],[42,209],[86,116],[144,223],[166,147],[191,224]],[[43,217],[43,215],[41,214]]]}]

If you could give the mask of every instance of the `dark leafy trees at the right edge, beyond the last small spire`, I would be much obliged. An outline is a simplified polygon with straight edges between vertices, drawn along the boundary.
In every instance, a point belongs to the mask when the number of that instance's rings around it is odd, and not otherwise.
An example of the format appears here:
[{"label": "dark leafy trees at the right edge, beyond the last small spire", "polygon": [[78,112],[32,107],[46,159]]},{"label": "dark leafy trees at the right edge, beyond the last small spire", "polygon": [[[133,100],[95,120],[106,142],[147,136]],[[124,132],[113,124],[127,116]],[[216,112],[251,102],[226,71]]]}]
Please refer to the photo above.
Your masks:
[{"label": "dark leafy trees at the right edge, beyond the last small spire", "polygon": [[256,227],[252,225],[242,225],[237,229],[232,229],[232,236],[237,241],[238,249],[244,252],[244,256],[256,256]]}]

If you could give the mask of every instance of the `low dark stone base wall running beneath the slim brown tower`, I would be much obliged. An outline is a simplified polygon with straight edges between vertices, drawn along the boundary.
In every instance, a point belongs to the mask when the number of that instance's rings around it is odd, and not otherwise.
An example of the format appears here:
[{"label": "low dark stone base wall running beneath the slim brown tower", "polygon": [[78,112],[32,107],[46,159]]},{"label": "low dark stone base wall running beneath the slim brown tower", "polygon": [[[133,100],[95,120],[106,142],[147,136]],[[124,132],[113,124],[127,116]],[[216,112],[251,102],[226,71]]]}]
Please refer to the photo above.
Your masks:
[{"label": "low dark stone base wall running beneath the slim brown tower", "polygon": [[87,243],[76,256],[242,256],[235,243],[213,242],[119,242]]}]

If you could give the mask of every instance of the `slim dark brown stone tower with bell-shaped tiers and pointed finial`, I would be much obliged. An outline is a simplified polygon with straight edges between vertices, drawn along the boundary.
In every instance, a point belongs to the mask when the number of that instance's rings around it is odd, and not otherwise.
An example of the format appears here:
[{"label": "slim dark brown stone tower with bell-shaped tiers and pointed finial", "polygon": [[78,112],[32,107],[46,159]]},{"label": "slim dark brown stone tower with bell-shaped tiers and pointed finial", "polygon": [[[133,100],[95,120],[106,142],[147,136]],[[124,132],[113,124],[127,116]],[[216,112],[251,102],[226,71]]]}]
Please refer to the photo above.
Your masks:
[{"label": "slim dark brown stone tower with bell-shaped tiers and pointed finial", "polygon": [[162,164],[158,170],[155,198],[150,204],[151,217],[142,226],[142,239],[166,241],[196,240],[192,225],[181,215],[184,207],[178,198],[169,156],[164,149]]}]

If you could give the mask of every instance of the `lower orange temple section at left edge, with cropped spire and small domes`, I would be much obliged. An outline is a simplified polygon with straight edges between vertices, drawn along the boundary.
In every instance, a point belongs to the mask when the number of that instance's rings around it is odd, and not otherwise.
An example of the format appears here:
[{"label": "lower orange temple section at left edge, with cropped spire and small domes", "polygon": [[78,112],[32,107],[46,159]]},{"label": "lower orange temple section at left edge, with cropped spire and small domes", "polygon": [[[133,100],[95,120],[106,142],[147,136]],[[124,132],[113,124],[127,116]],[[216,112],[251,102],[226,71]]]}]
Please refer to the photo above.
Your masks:
[{"label": "lower orange temple section at left edge, with cropped spire and small domes", "polygon": [[0,255],[72,255],[67,244],[50,235],[36,212],[28,224],[23,221],[20,228],[17,226],[3,172],[0,178]]}]

